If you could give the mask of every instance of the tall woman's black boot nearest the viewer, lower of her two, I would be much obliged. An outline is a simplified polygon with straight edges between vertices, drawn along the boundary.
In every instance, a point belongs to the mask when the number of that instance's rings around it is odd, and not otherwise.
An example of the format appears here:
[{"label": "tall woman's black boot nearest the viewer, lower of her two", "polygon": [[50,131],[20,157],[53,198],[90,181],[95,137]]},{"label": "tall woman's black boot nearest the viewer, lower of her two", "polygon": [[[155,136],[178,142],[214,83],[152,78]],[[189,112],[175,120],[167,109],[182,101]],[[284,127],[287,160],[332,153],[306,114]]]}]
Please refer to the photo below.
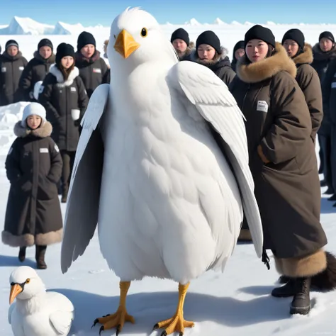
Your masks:
[{"label": "tall woman's black boot nearest the viewer, lower of her two", "polygon": [[311,278],[297,278],[296,293],[291,301],[290,313],[307,315],[310,312],[310,281]]}]

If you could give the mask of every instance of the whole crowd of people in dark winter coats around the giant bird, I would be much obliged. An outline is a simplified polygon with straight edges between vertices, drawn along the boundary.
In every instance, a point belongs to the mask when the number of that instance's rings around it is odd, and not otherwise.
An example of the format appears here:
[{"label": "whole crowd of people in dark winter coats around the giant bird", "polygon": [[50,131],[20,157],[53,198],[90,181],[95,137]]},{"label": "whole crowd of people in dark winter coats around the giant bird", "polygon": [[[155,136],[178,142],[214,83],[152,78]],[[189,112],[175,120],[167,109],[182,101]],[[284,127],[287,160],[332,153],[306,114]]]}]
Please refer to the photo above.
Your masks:
[{"label": "whole crowd of people in dark winter coats around the giant bird", "polygon": [[[310,284],[327,271],[331,258],[323,250],[327,237],[320,224],[320,184],[336,201],[334,36],[325,31],[311,47],[301,30],[291,29],[280,43],[271,30],[256,25],[237,41],[232,60],[211,30],[193,45],[189,33],[179,28],[171,43],[181,62],[197,62],[223,80],[244,114],[264,229],[263,258],[268,263],[266,250],[271,250],[285,283],[272,295],[293,296],[291,313],[308,313]],[[94,89],[109,82],[110,72],[87,32],[79,35],[77,52],[61,43],[54,55],[51,41],[41,40],[30,62],[9,40],[0,63],[1,104],[31,102],[15,126],[18,138],[6,159],[11,189],[2,241],[20,247],[21,262],[26,247],[36,245],[37,265],[43,269],[47,245],[62,240],[57,184],[62,181],[61,201],[66,202],[80,121]],[[245,222],[239,240],[251,240]],[[333,288],[329,280],[320,287]]]}]

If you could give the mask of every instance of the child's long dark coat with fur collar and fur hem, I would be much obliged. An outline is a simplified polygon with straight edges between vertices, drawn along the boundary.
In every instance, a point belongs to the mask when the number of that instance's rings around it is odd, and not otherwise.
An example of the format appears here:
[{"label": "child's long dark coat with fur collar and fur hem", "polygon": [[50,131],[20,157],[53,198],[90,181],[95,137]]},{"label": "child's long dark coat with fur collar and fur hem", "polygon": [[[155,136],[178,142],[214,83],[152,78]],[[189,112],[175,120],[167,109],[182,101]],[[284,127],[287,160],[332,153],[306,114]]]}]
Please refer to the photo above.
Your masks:
[{"label": "child's long dark coat with fur collar and fur hem", "polygon": [[50,138],[52,125],[36,130],[16,123],[13,142],[6,158],[11,182],[2,242],[13,247],[50,245],[62,241],[62,214],[57,181],[62,159]]}]

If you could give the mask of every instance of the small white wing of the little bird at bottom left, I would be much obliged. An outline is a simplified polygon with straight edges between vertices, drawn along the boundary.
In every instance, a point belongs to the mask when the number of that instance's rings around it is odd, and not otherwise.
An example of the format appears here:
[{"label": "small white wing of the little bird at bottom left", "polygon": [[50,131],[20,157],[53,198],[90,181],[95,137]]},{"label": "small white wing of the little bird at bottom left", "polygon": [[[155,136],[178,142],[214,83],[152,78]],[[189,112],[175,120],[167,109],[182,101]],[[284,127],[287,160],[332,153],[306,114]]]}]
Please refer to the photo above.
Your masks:
[{"label": "small white wing of the little bird at bottom left", "polygon": [[68,335],[72,320],[74,320],[74,306],[71,301],[60,293],[47,292],[47,302],[54,309],[49,315],[52,327],[60,335]]}]

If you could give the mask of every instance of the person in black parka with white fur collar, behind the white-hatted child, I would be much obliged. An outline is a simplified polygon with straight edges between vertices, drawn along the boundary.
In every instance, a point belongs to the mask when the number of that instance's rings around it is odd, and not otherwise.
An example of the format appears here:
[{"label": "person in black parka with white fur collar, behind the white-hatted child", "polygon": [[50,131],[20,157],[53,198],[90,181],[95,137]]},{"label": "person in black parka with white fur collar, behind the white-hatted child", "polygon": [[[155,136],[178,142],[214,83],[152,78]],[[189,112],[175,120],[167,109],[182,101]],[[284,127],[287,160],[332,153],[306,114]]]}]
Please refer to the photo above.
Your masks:
[{"label": "person in black parka with white fur collar, behind the white-hatted child", "polygon": [[67,201],[69,179],[79,141],[79,125],[86,110],[88,96],[79,69],[74,66],[74,48],[61,43],[57,47],[56,64],[43,81],[39,103],[47,110],[55,140],[63,160],[62,203]]}]

